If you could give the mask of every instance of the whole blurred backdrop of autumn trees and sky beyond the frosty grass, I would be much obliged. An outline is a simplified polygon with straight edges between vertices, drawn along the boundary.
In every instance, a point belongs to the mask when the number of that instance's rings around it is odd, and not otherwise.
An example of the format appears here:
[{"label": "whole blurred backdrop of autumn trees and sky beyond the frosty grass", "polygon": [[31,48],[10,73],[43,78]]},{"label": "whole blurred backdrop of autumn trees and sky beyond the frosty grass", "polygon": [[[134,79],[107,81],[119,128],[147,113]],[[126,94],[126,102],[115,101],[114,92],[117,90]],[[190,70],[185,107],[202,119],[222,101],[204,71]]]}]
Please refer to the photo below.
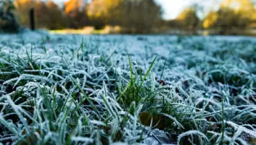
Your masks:
[{"label": "whole blurred backdrop of autumn trees and sky beyond the frosty grass", "polygon": [[256,35],[253,0],[0,0],[0,31]]}]

